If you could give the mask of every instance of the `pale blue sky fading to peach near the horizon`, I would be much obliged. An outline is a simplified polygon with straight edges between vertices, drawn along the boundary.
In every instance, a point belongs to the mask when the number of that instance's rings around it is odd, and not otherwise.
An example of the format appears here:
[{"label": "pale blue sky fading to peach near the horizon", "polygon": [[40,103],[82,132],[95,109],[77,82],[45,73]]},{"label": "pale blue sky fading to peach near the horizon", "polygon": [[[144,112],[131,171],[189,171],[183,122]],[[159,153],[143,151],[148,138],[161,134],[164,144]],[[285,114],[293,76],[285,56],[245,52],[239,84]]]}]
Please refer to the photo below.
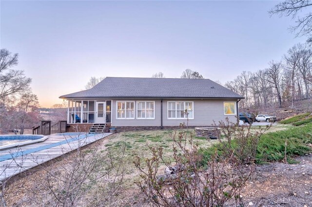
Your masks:
[{"label": "pale blue sky fading to peach near the horizon", "polygon": [[185,69],[225,83],[265,69],[305,37],[278,1],[0,0],[0,48],[19,53],[43,107],[95,77],[179,78]]}]

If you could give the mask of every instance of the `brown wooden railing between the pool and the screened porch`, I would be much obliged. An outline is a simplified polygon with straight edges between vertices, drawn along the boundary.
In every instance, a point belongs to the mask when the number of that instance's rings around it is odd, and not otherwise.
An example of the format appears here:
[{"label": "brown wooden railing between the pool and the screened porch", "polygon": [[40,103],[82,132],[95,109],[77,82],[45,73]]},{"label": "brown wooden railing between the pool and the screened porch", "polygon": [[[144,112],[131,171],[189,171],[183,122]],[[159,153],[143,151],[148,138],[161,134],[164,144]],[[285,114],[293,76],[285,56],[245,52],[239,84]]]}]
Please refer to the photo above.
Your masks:
[{"label": "brown wooden railing between the pool and the screened porch", "polygon": [[51,121],[40,121],[40,125],[33,126],[33,135],[51,135],[56,133],[63,133],[67,131],[67,121],[59,121],[51,125]]}]

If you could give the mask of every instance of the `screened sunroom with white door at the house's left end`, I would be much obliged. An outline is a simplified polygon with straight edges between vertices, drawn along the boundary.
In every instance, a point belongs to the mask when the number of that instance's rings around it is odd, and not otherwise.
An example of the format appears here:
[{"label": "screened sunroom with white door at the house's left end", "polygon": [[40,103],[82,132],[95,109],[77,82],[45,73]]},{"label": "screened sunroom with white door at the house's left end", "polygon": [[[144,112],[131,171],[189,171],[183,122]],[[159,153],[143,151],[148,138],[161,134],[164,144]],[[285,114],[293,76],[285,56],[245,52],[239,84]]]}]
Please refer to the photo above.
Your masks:
[{"label": "screened sunroom with white door at the house's left end", "polygon": [[112,100],[68,101],[68,123],[111,123]]}]

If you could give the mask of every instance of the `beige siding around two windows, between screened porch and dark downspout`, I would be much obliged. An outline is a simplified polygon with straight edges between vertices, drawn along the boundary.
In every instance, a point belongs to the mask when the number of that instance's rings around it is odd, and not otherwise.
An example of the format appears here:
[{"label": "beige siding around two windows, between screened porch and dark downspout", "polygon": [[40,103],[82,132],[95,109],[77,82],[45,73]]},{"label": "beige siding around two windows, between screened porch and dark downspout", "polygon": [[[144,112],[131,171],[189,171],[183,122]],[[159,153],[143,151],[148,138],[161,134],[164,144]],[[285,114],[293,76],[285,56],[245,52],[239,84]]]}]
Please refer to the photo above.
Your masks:
[{"label": "beige siding around two windows, between screened porch and dark downspout", "polygon": [[[116,102],[117,101],[135,101],[135,119],[116,119]],[[155,101],[155,119],[137,119],[137,101]],[[161,126],[160,123],[160,100],[137,100],[137,99],[129,99],[129,100],[113,100],[112,106],[112,126]]]}]

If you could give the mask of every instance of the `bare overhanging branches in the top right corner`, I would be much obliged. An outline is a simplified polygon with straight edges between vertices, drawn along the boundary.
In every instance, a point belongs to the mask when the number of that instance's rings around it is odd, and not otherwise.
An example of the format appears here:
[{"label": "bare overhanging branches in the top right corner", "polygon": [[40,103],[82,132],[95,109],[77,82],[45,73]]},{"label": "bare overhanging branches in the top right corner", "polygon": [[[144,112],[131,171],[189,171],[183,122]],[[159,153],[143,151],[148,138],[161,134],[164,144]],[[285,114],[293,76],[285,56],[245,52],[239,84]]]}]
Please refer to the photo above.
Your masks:
[{"label": "bare overhanging branches in the top right corner", "polygon": [[307,41],[312,42],[312,12],[308,10],[308,13],[303,16],[300,14],[304,8],[310,8],[311,5],[310,0],[285,0],[276,4],[269,13],[296,19],[296,25],[292,26],[290,30],[295,32],[296,36],[308,36]]}]

